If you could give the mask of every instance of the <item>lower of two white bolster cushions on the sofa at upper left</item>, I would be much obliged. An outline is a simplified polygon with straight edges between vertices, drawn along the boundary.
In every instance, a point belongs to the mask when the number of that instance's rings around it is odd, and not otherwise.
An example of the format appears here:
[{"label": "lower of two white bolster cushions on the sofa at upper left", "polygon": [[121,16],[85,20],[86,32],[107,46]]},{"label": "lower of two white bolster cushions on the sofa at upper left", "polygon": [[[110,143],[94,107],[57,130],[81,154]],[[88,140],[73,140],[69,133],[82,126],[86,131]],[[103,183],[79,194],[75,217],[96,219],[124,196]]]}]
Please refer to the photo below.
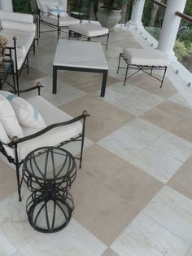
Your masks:
[{"label": "lower of two white bolster cushions on the sofa at upper left", "polygon": [[2,29],[12,29],[23,32],[35,32],[36,26],[33,23],[19,22],[14,20],[1,20]]}]

